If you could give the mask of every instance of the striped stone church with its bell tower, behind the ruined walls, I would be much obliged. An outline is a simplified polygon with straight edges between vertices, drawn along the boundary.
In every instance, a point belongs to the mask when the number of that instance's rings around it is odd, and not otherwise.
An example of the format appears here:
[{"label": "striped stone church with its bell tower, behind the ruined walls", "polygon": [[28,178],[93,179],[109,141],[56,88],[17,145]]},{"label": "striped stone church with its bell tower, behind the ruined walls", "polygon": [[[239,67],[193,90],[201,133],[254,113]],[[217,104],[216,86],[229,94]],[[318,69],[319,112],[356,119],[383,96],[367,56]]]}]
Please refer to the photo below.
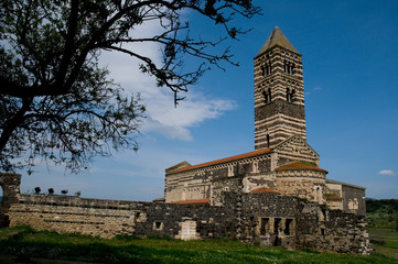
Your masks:
[{"label": "striped stone church with its bell tower, behind the ruined walls", "polygon": [[302,56],[273,29],[254,58],[255,151],[165,169],[166,204],[222,206],[224,193],[298,197],[364,216],[365,188],[326,178],[306,142]]}]

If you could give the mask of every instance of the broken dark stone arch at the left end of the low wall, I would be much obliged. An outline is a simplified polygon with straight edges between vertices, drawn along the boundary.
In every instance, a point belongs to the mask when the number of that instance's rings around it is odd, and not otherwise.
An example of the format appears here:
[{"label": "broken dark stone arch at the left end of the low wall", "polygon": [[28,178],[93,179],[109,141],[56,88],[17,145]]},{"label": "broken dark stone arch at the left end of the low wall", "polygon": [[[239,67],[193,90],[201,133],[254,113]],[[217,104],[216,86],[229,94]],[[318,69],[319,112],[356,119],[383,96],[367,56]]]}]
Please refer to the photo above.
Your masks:
[{"label": "broken dark stone arch at the left end of the low wall", "polygon": [[10,223],[8,212],[12,204],[17,204],[20,195],[21,175],[0,173],[0,187],[2,199],[0,202],[0,227],[8,227]]}]

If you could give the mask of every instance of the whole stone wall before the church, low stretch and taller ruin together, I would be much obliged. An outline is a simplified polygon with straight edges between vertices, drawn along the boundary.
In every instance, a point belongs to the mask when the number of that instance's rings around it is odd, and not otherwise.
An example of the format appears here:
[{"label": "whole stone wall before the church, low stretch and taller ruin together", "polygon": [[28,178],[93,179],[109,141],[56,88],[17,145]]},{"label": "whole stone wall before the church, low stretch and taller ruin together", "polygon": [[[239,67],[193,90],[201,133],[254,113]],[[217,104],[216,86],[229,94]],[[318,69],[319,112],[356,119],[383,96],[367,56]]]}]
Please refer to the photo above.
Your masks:
[{"label": "whole stone wall before the church, low stretch and taller ruin together", "polygon": [[224,194],[224,206],[19,195],[10,226],[58,233],[230,238],[288,249],[368,254],[366,219],[315,202],[271,194]]}]

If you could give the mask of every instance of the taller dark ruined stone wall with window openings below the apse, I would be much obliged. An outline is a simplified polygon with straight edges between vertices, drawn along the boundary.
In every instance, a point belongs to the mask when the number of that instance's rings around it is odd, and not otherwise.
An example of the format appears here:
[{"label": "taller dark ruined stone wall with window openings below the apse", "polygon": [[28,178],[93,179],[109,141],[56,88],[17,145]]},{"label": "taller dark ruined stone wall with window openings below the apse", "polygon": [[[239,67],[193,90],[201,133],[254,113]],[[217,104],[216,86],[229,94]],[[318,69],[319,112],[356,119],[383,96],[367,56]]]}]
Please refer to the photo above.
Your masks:
[{"label": "taller dark ruined stone wall with window openings below the apse", "polygon": [[368,254],[372,251],[365,217],[330,210],[288,196],[241,196],[240,240],[288,249]]}]

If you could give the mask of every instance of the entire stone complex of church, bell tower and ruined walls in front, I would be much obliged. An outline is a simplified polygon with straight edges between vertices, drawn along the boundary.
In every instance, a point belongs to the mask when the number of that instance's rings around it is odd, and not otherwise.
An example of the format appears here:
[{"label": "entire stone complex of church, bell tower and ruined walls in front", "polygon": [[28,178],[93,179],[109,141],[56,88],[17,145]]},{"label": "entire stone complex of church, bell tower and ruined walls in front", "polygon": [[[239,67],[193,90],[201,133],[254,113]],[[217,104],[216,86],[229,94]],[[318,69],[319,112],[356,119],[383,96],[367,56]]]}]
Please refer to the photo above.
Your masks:
[{"label": "entire stone complex of church, bell tower and ruined walls in front", "polygon": [[0,224],[112,238],[230,238],[288,249],[368,254],[365,189],[326,179],[308,144],[301,55],[276,28],[255,57],[255,146],[165,169],[153,202],[22,195],[0,174]]}]

